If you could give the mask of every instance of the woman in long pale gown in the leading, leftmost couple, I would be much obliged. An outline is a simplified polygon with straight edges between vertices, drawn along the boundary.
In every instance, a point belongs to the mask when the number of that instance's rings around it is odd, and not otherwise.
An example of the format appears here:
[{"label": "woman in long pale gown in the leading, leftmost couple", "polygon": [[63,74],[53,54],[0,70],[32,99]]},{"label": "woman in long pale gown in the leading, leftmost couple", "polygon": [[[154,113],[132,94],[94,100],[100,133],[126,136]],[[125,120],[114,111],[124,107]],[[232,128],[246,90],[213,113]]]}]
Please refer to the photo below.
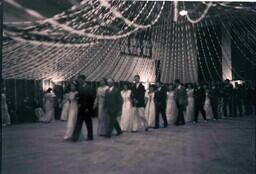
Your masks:
[{"label": "woman in long pale gown in the leading, leftmost couple", "polygon": [[70,85],[70,92],[68,93],[68,101],[69,101],[69,109],[68,109],[68,121],[67,121],[67,129],[64,135],[64,140],[69,140],[72,138],[76,120],[77,120],[77,112],[78,112],[78,104],[77,104],[77,90],[74,84]]}]

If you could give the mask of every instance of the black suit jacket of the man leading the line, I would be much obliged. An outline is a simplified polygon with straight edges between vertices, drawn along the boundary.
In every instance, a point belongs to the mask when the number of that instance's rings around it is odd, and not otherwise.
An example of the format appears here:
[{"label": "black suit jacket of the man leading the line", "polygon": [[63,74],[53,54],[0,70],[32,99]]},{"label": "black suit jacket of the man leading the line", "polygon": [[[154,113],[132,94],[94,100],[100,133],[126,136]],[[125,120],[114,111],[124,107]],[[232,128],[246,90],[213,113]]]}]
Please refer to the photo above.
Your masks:
[{"label": "black suit jacket of the man leading the line", "polygon": [[89,86],[78,86],[78,104],[80,109],[89,109],[92,111],[95,99],[94,90]]}]

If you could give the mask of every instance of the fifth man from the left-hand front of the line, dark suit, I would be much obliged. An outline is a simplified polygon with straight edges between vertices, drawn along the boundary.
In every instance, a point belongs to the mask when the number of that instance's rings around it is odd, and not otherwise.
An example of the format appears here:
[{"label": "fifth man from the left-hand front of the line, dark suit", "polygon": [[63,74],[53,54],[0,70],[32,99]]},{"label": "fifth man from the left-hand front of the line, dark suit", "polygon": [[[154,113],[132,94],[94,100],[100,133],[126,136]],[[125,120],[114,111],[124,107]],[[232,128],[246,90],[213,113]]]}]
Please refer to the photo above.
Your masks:
[{"label": "fifth man from the left-hand front of the line, dark suit", "polygon": [[178,109],[178,118],[175,122],[175,125],[179,126],[179,125],[184,125],[185,124],[185,120],[184,120],[184,110],[186,109],[186,106],[188,104],[188,98],[187,98],[187,92],[185,87],[180,83],[180,80],[175,80],[175,85],[176,85],[176,89],[175,89],[175,102],[177,105],[177,109]]}]

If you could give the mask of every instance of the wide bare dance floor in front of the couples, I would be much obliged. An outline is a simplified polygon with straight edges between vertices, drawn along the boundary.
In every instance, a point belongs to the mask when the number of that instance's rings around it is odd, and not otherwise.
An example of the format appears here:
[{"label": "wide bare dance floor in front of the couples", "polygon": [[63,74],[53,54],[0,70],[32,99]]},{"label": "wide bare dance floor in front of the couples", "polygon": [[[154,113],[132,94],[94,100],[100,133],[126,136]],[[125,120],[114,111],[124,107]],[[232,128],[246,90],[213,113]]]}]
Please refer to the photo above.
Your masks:
[{"label": "wide bare dance floor in front of the couples", "polygon": [[111,139],[95,136],[93,142],[77,143],[62,140],[65,126],[56,121],[3,128],[2,173],[255,173],[254,117],[171,125]]}]

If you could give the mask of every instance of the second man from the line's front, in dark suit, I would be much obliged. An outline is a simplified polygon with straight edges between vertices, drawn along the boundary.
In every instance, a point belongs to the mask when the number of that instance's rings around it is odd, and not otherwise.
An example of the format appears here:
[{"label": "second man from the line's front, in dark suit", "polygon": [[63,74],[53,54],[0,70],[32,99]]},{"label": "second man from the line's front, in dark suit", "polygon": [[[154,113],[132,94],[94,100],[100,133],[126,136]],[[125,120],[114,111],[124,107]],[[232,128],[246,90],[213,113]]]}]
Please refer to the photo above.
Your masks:
[{"label": "second man from the line's front, in dark suit", "polygon": [[121,109],[122,98],[120,91],[114,87],[114,80],[109,78],[107,80],[108,89],[105,93],[103,109],[106,111],[106,115],[109,119],[108,129],[106,137],[110,138],[112,135],[113,128],[117,131],[117,136],[122,134],[122,130],[117,121],[118,113]]}]

